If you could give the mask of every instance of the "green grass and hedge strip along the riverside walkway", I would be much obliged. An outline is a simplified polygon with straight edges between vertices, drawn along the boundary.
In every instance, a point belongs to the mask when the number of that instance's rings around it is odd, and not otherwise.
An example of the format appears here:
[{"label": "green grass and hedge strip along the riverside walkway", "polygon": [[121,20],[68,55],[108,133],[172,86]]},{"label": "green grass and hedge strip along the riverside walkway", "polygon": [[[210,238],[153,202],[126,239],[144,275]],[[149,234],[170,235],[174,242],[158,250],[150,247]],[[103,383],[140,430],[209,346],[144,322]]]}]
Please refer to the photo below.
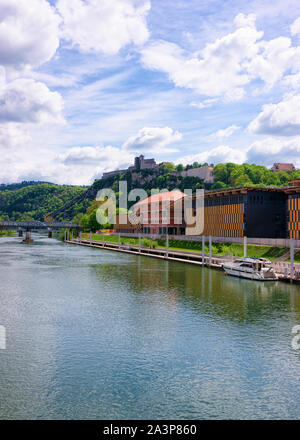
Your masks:
[{"label": "green grass and hedge strip along the riverside walkway", "polygon": [[[82,234],[82,238],[89,240],[90,234]],[[92,240],[94,241],[102,241],[102,234],[92,234]],[[148,240],[148,239],[147,239]],[[118,243],[119,237],[116,235],[105,235],[105,241],[107,243]],[[165,249],[166,240],[159,239],[152,241],[158,249]],[[131,244],[138,246],[139,240],[138,238],[129,238],[121,236],[121,243]],[[178,250],[178,251],[190,251],[190,252],[200,252],[202,253],[202,243],[201,242],[193,242],[193,241],[180,241],[180,240],[170,240],[169,241],[169,249],[170,250]],[[272,247],[272,246],[260,246],[260,245],[248,245],[247,246],[247,255],[248,257],[260,257],[267,258],[271,261],[276,260],[284,254],[289,252],[288,248],[285,247]],[[209,253],[208,243],[205,244],[205,253]],[[233,255],[235,257],[243,257],[244,256],[244,246],[240,243],[213,243],[212,244],[212,253],[213,255],[218,256],[228,256]],[[298,254],[295,254],[295,262]],[[299,262],[300,262],[300,252],[299,252]]]}]

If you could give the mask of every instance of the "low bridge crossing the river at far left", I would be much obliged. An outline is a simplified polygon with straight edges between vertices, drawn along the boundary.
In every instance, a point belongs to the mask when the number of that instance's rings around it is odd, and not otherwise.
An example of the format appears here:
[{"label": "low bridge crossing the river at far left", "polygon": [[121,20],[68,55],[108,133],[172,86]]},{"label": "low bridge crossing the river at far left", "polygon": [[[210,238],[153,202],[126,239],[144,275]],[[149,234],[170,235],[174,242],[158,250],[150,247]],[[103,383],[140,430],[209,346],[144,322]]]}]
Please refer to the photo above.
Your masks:
[{"label": "low bridge crossing the river at far left", "polygon": [[78,223],[72,222],[40,222],[38,220],[14,222],[14,221],[0,221],[0,231],[18,231],[19,237],[23,237],[23,233],[26,232],[25,242],[32,242],[31,232],[46,230],[48,231],[48,237],[52,237],[52,232],[58,229],[81,229]]}]

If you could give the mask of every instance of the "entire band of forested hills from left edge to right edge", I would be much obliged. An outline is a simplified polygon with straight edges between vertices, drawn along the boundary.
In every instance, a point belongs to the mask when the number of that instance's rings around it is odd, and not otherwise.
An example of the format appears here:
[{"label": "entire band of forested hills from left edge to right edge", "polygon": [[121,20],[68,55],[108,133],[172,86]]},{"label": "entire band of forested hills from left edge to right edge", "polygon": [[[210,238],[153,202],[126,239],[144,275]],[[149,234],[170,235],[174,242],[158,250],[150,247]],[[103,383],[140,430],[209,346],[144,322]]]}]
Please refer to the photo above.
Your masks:
[{"label": "entire band of forested hills from left edge to right edge", "polygon": [[[204,164],[206,165],[206,164]],[[48,183],[22,182],[0,185],[0,219],[43,220],[46,215],[57,220],[76,220],[90,211],[97,192],[112,188],[118,197],[119,180],[126,180],[128,191],[143,188],[148,194],[151,189],[180,190],[205,188],[206,190],[243,186],[284,186],[293,178],[300,178],[300,171],[272,172],[260,165],[219,164],[214,167],[215,183],[205,184],[197,177],[182,177],[176,171],[197,168],[193,165],[163,165],[160,170],[144,170],[124,173],[108,179],[95,180],[90,187],[54,185]],[[50,219],[49,218],[49,219]]]}]

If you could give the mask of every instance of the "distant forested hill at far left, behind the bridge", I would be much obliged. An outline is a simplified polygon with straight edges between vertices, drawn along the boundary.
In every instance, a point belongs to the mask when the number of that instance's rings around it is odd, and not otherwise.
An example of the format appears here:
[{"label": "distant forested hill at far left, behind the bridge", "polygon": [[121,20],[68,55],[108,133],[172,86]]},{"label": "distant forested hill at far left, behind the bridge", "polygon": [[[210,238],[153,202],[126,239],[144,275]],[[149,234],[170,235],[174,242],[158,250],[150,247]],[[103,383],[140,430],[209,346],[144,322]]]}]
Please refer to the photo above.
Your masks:
[{"label": "distant forested hill at far left, behind the bridge", "polygon": [[[49,212],[57,210],[87,191],[80,186],[34,184],[20,189],[0,191],[0,219],[2,220],[44,220]],[[84,212],[89,202],[78,206]]]}]

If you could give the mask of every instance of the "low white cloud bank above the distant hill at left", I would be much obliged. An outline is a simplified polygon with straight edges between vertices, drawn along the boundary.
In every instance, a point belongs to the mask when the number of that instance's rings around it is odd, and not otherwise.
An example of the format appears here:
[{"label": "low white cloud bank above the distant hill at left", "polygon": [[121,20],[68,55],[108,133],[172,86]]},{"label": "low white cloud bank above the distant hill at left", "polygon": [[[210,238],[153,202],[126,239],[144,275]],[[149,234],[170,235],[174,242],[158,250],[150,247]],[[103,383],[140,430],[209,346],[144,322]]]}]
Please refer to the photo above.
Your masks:
[{"label": "low white cloud bank above the distant hill at left", "polygon": [[[74,147],[58,155],[46,148],[35,154],[32,149],[27,148],[24,138],[21,139],[21,132],[18,148],[9,150],[2,144],[1,133],[0,128],[0,154],[3,165],[0,169],[0,182],[44,180],[87,185],[95,178],[100,178],[105,171],[127,168],[133,163],[134,157],[130,153],[112,146]],[[7,133],[3,134],[6,143]],[[13,134],[16,135],[15,132]]]}]

